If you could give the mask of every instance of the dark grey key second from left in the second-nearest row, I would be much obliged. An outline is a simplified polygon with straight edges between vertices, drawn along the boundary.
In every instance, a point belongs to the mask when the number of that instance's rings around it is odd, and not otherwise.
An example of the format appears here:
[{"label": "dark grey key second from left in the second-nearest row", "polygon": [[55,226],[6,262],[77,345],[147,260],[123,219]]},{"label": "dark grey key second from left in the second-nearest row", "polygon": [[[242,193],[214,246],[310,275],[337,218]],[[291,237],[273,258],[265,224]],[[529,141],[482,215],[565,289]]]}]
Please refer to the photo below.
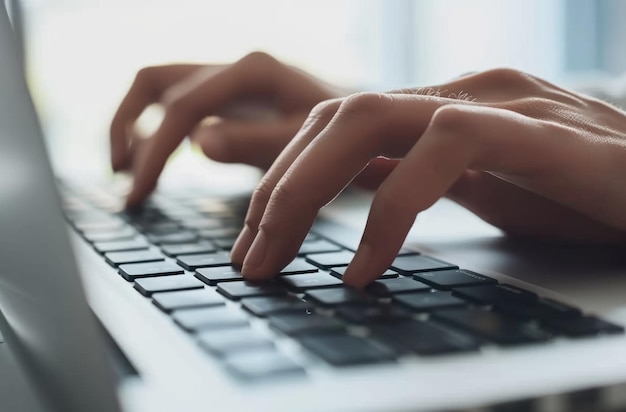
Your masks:
[{"label": "dark grey key second from left in the second-nearest row", "polygon": [[269,316],[267,319],[271,327],[290,336],[333,333],[345,329],[337,319],[316,313],[279,314]]}]

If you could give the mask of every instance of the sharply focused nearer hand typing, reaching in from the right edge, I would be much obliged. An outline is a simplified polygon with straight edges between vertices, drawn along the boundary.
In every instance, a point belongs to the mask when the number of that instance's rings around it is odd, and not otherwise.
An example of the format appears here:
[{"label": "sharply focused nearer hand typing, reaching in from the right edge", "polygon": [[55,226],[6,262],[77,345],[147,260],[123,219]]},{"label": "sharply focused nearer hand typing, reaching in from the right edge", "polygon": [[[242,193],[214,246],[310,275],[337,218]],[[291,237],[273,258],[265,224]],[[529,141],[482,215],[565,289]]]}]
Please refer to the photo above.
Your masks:
[{"label": "sharply focused nearer hand typing, reaching in from the right edge", "polygon": [[249,279],[296,255],[319,209],[369,163],[387,174],[344,281],[389,267],[444,195],[506,231],[623,241],[626,113],[514,70],[317,105],[255,190],[232,250]]}]

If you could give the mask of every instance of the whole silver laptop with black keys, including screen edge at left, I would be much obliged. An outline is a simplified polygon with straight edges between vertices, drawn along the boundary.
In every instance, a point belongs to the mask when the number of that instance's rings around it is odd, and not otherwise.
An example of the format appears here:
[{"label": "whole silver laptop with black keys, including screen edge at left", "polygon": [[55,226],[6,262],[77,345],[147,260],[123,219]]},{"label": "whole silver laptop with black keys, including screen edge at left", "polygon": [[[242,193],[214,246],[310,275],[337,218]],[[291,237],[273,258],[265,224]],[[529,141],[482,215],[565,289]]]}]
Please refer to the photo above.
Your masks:
[{"label": "whole silver laptop with black keys, including screen edge at left", "polygon": [[442,200],[347,290],[371,199],[353,191],[249,284],[228,259],[241,190],[128,213],[115,187],[59,181],[4,8],[0,56],[0,410],[624,407],[623,248],[515,241]]}]

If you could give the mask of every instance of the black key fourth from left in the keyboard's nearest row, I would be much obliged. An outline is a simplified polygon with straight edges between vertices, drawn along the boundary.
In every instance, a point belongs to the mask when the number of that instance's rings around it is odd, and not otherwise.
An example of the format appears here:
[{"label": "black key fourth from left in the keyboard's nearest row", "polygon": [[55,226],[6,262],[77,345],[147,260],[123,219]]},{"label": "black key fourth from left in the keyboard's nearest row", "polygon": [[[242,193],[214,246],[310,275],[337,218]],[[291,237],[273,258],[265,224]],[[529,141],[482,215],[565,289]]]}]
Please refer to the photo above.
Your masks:
[{"label": "black key fourth from left in the keyboard's nearest row", "polygon": [[543,342],[549,336],[527,322],[479,308],[442,309],[432,317],[502,345]]}]

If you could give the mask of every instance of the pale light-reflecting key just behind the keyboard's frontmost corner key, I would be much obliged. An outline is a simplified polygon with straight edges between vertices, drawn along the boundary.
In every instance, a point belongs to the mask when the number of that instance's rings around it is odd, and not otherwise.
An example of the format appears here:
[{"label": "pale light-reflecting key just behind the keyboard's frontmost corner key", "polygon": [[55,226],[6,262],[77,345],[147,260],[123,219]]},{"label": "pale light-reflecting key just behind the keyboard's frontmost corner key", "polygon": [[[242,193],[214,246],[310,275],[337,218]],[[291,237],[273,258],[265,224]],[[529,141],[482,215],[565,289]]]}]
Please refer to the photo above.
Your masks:
[{"label": "pale light-reflecting key just behind the keyboard's frontmost corner key", "polygon": [[198,335],[198,343],[202,348],[218,356],[248,350],[256,351],[274,345],[271,340],[249,327],[201,332]]}]

